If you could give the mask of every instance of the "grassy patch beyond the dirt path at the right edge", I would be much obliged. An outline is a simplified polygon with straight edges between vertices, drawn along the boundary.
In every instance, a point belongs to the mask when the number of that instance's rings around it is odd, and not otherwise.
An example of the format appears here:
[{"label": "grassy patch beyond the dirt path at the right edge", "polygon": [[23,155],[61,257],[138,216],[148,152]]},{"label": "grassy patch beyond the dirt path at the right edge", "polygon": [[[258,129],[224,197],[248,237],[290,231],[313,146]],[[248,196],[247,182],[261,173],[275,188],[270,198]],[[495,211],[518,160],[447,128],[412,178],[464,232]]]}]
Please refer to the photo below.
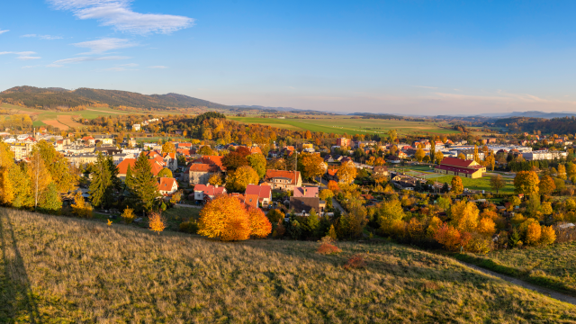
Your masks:
[{"label": "grassy patch beyond the dirt path at the right edge", "polygon": [[576,296],[576,242],[514,248],[456,258],[504,275]]}]

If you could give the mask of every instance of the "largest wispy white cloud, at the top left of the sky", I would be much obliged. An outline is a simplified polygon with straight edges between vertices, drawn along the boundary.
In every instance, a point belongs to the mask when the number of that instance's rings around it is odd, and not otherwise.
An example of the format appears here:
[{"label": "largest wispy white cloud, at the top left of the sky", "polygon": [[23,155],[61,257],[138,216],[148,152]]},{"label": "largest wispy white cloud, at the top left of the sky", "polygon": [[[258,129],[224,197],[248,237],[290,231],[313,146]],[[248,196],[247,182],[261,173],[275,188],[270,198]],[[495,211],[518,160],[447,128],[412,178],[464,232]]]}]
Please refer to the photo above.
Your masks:
[{"label": "largest wispy white cloud, at the top left of the sky", "polygon": [[96,19],[103,26],[136,34],[171,33],[193,25],[192,18],[172,14],[139,14],[130,8],[131,0],[48,0],[59,10],[74,13],[78,19]]}]

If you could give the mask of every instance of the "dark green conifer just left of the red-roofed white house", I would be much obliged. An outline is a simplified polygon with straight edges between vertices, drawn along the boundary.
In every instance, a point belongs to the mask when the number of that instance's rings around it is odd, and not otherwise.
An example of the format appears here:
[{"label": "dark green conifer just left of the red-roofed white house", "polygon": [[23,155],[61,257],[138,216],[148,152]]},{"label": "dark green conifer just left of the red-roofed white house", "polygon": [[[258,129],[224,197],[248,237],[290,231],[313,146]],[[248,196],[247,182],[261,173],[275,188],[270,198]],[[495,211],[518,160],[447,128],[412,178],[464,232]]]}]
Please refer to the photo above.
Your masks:
[{"label": "dark green conifer just left of the red-roofed white house", "polygon": [[159,196],[156,176],[152,175],[152,166],[148,157],[140,155],[134,163],[134,177],[130,181],[130,194],[139,211],[151,211]]}]

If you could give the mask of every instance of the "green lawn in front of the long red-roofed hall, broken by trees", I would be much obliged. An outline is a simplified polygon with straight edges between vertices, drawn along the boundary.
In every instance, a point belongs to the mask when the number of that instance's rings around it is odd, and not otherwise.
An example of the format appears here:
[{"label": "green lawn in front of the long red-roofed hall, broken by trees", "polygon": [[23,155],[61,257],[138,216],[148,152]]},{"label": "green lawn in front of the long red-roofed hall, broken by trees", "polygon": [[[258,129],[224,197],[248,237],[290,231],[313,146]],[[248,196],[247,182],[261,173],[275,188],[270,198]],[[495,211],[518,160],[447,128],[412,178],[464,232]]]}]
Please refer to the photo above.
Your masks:
[{"label": "green lawn in front of the long red-roofed hall, broken by trees", "polygon": [[[392,170],[392,169],[391,169]],[[397,166],[395,168],[398,172],[404,172],[406,175],[417,176],[424,179],[430,179],[433,181],[437,181],[438,183],[447,183],[450,184],[452,181],[452,177],[454,175],[440,175],[434,173],[434,169],[429,168],[428,166]],[[471,179],[462,177],[462,183],[464,184],[464,188],[468,188],[470,190],[485,190],[492,192],[492,188],[490,186],[490,178],[491,175],[484,174],[482,178],[478,179]],[[514,193],[514,179],[509,177],[504,177],[504,181],[506,185],[504,188],[500,189],[500,193]]]}]

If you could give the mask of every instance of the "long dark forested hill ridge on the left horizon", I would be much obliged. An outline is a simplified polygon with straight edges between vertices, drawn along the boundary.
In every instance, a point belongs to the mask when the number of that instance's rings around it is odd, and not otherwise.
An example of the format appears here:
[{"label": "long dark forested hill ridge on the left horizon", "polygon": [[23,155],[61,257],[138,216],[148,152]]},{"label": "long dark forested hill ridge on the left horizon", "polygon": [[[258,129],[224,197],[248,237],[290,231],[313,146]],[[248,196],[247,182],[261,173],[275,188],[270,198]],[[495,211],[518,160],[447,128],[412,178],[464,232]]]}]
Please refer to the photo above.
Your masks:
[{"label": "long dark forested hill ridge on the left horizon", "polygon": [[37,108],[73,108],[81,105],[105,103],[112,107],[127,106],[143,109],[194,108],[233,109],[220,103],[193,98],[184,94],[137,94],[119,90],[101,90],[79,88],[67,90],[62,88],[39,88],[34,86],[15,86],[0,93],[0,101],[23,104]]}]

